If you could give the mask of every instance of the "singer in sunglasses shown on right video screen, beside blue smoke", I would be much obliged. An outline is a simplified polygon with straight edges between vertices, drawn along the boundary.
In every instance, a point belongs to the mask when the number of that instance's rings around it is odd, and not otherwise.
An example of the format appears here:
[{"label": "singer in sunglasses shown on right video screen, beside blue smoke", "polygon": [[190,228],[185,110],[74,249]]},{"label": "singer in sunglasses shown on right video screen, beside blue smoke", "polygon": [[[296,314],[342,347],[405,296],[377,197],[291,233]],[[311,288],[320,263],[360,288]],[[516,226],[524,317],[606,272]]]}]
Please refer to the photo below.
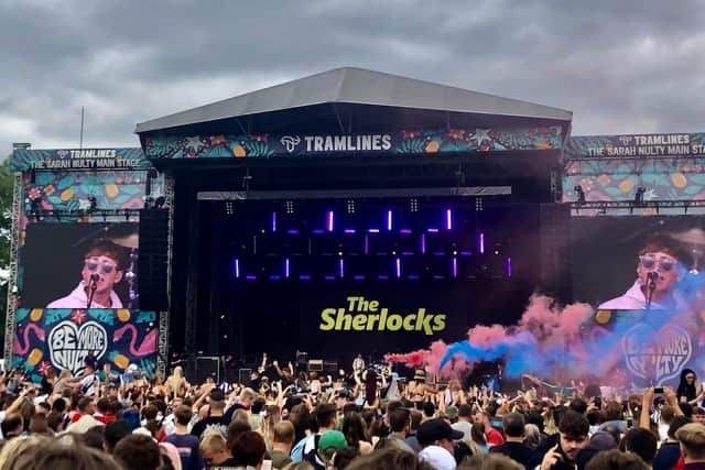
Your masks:
[{"label": "singer in sunglasses shown on right video screen, beside blue smoke", "polygon": [[685,275],[684,254],[679,243],[663,234],[653,236],[639,250],[637,281],[621,296],[599,305],[604,309],[679,309],[684,305],[675,287]]}]

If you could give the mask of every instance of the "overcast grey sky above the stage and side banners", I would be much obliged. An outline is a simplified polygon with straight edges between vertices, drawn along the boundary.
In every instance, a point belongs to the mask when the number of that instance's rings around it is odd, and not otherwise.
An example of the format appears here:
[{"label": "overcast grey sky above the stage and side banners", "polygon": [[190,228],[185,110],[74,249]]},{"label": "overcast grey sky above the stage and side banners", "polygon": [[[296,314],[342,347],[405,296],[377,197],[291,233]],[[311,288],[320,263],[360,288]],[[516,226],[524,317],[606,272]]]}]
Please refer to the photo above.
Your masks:
[{"label": "overcast grey sky above the stage and side banners", "polygon": [[[705,131],[695,0],[0,0],[0,154],[138,146],[134,124],[339,66],[574,112],[573,135]],[[7,151],[7,152],[6,152]]]}]

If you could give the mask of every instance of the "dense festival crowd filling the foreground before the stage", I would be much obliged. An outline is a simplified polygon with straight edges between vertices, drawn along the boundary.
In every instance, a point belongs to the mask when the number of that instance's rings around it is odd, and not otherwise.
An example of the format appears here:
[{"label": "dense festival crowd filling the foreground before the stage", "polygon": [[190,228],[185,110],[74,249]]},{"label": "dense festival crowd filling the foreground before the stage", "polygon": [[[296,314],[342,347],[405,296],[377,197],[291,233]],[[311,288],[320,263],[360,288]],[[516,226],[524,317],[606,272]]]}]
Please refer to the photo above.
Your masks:
[{"label": "dense festival crowd filling the foreground before the stage", "polygon": [[[245,383],[99,371],[3,374],[6,469],[705,469],[705,397],[695,372],[676,391],[603,394],[539,380],[509,394],[423,370],[333,375],[276,361]],[[465,385],[465,386],[464,386]]]}]

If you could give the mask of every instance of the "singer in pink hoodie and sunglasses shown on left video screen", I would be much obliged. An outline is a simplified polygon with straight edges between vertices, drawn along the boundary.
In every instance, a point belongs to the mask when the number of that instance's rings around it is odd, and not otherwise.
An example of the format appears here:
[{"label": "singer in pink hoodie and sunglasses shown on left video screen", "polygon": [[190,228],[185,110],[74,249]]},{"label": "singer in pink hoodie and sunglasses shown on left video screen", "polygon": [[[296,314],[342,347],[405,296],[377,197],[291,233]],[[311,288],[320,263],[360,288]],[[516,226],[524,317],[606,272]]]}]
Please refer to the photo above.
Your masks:
[{"label": "singer in pink hoodie and sunglasses shown on left video screen", "polygon": [[122,280],[121,248],[107,239],[96,241],[84,255],[82,281],[66,297],[46,308],[122,308],[112,286]]}]

